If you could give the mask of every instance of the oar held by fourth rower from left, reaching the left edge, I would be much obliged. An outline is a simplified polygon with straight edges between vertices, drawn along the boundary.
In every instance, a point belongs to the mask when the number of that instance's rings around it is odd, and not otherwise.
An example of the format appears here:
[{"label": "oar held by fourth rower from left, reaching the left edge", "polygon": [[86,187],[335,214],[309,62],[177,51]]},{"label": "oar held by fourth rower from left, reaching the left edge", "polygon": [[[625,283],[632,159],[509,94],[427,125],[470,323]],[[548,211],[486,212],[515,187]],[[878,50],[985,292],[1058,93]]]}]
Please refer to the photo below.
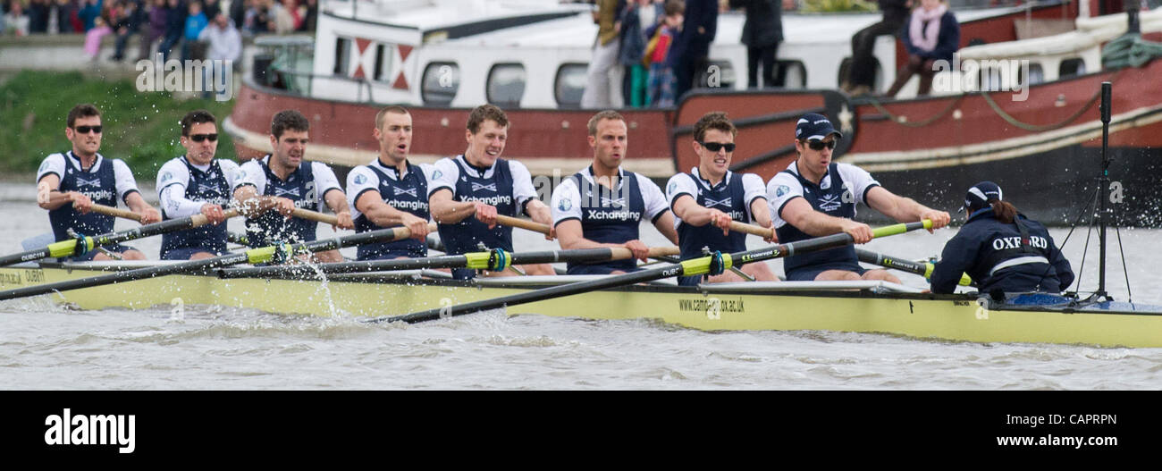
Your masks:
[{"label": "oar held by fourth rower from left, reaching the left edge", "polygon": [[120,271],[110,274],[78,278],[67,281],[49,283],[44,285],[26,286],[16,290],[0,291],[0,300],[30,297],[58,291],[80,290],[93,286],[112,285],[114,283],[132,281],[142,278],[163,277],[166,274],[194,274],[205,273],[209,270],[223,266],[237,265],[239,263],[267,263],[289,259],[294,254],[303,251],[335,250],[344,247],[359,245],[375,242],[397,241],[408,238],[411,231],[407,228],[392,228],[372,230],[354,235],[346,235],[325,241],[303,242],[296,244],[282,244],[263,247],[246,250],[238,254],[227,254],[220,257],[206,258],[201,261],[174,263],[160,266],[149,266],[137,270]]}]

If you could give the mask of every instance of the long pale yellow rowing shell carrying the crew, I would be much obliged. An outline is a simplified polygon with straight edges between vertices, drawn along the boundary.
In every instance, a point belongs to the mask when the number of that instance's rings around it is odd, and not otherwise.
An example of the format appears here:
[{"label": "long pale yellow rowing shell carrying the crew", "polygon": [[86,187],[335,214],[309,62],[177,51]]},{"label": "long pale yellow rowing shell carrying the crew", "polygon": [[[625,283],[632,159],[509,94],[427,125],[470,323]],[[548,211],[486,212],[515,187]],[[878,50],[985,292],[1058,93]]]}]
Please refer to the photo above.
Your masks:
[{"label": "long pale yellow rowing shell carrying the crew", "polygon": [[[156,264],[156,262],[151,263]],[[41,264],[0,269],[0,288],[88,277],[141,263]],[[458,281],[417,273],[331,276],[327,283],[215,274],[170,276],[55,293],[83,309],[218,305],[270,313],[383,316],[516,294],[583,277]],[[234,271],[229,277],[223,274]],[[20,302],[20,301],[5,301]],[[594,320],[653,319],[701,330],[833,330],[968,342],[1162,347],[1162,307],[1127,302],[1013,306],[938,295],[885,281],[634,285],[528,305],[514,314]]]}]

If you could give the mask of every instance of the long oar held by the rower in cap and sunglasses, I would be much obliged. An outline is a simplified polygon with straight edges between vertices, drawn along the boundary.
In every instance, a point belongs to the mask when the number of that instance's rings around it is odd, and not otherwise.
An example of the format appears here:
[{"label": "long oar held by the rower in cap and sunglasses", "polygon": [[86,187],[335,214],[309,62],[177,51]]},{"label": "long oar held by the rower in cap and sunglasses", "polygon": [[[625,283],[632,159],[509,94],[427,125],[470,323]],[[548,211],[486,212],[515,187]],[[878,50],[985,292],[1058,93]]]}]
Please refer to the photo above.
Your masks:
[{"label": "long oar held by the rower in cap and sunglasses", "polygon": [[[910,230],[916,230],[921,228],[926,229],[931,227],[932,227],[932,221],[930,220],[924,220],[921,222],[909,222],[903,224],[887,226],[873,230],[873,237],[887,237],[890,235],[904,234]],[[848,245],[853,242],[854,240],[852,238],[852,236],[846,233],[832,234],[829,236],[808,238],[804,241],[791,242],[788,244],[770,245],[762,249],[746,250],[737,254],[722,254],[720,257],[708,256],[701,258],[691,258],[676,265],[659,266],[657,269],[618,274],[596,280],[552,286],[519,294],[500,297],[482,301],[466,302],[458,306],[443,307],[439,309],[429,309],[399,316],[379,317],[372,321],[373,322],[403,321],[409,323],[423,322],[440,317],[471,314],[480,311],[497,309],[505,306],[515,306],[526,302],[540,301],[545,299],[567,297],[571,294],[586,293],[596,290],[604,290],[617,286],[627,286],[638,283],[653,281],[662,278],[722,272],[723,270],[729,269],[733,265],[744,265],[747,263],[788,257],[795,254],[832,249],[837,247]]]}]

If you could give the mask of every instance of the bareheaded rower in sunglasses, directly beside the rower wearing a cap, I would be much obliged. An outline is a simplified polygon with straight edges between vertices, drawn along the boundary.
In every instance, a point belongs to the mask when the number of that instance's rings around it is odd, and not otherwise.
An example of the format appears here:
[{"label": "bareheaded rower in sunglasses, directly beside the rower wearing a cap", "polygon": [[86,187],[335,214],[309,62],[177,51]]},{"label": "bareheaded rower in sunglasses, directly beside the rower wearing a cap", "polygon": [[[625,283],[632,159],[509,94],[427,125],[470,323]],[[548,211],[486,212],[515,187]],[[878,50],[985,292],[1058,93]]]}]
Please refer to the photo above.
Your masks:
[{"label": "bareheaded rower in sunglasses, directly beside the rower wearing a cap", "polygon": [[[710,112],[694,124],[694,152],[698,166],[679,173],[666,184],[666,199],[674,209],[682,259],[702,257],[703,250],[733,254],[746,250],[746,234],[730,233],[733,221],[756,223],[770,229],[770,209],[762,178],[754,173],[730,171],[738,128],[726,113]],[[766,242],[777,241],[766,237]],[[741,270],[759,281],[777,281],[766,263],[743,265]],[[682,286],[708,283],[743,281],[734,272],[706,277],[679,277]]]}]

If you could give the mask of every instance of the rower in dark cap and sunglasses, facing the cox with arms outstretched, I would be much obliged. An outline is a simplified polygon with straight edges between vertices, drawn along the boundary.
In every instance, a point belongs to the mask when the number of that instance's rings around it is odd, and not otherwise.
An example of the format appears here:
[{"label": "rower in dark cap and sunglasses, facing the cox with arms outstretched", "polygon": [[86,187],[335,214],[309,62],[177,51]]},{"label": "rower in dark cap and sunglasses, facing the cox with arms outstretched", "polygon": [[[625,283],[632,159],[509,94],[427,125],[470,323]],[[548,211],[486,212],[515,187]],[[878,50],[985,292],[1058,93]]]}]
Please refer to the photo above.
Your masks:
[{"label": "rower in dark cap and sunglasses, facing the cox with arms outstretched", "polygon": [[[798,158],[767,184],[767,200],[780,242],[847,233],[855,243],[867,243],[871,240],[871,227],[852,220],[856,202],[899,222],[930,219],[933,229],[948,226],[947,212],[889,192],[860,167],[832,162],[831,151],[842,137],[822,114],[805,114],[795,126]],[[861,267],[852,245],[792,255],[783,259],[783,269],[787,279],[796,281],[876,279],[899,283],[887,270]]]}]

